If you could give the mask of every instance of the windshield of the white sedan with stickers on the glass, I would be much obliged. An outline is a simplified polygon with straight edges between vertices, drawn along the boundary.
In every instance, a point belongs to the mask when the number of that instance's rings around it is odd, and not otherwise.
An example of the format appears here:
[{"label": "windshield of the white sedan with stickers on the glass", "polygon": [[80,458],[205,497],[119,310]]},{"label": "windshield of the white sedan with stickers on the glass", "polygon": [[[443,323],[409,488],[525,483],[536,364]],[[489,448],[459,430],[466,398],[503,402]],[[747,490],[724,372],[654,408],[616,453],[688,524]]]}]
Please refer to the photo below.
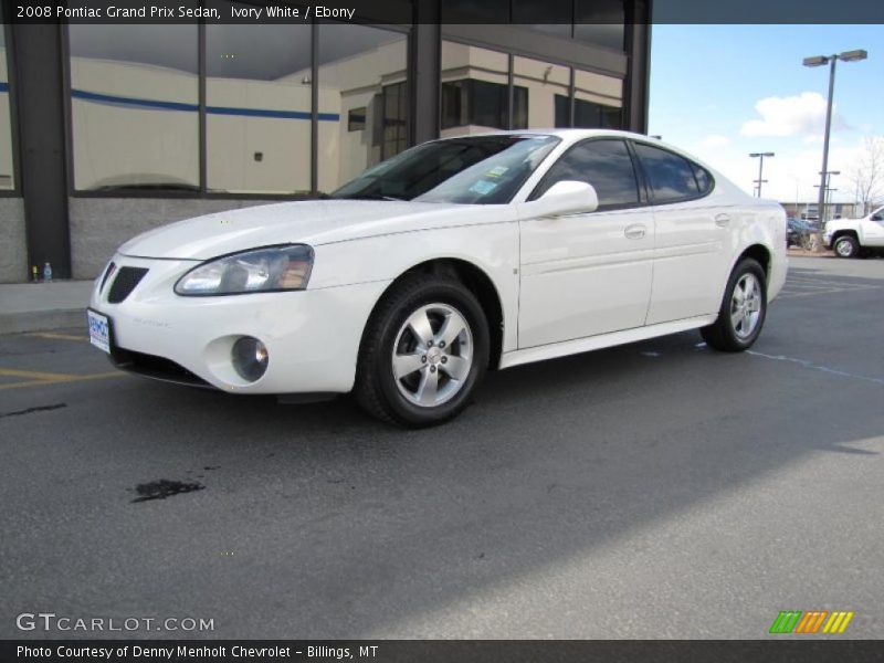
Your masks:
[{"label": "windshield of the white sedan with stickers on the glass", "polygon": [[425,143],[369,168],[329,198],[506,203],[558,143],[534,134]]}]

